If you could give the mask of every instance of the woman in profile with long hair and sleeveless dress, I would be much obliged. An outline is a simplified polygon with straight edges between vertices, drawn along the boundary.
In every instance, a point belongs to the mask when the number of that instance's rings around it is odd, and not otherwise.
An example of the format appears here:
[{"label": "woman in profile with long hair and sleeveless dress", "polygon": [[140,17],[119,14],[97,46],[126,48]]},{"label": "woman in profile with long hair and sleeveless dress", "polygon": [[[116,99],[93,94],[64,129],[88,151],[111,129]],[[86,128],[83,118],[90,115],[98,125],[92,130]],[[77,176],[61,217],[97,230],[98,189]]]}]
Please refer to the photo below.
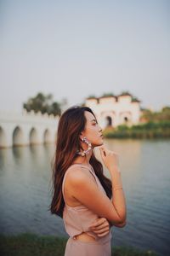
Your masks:
[{"label": "woman in profile with long hair and sleeveless dress", "polygon": [[[110,226],[126,224],[118,157],[103,143],[102,129],[91,108],[76,106],[61,115],[50,210],[63,218],[70,236],[65,256],[110,256]],[[111,180],[94,156],[98,146]]]}]

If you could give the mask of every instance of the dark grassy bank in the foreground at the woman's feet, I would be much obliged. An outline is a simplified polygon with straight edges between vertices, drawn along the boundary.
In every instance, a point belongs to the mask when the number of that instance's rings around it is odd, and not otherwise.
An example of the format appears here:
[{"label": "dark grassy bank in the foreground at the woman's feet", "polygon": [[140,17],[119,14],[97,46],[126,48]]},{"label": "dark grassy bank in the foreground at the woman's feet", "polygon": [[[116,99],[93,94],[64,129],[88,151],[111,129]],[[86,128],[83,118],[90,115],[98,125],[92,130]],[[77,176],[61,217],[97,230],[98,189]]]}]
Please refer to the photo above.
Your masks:
[{"label": "dark grassy bank in the foreground at the woman's feet", "polygon": [[[66,241],[66,238],[31,233],[0,235],[0,253],[3,256],[64,256]],[[153,251],[142,251],[134,247],[112,247],[112,255],[158,256]]]}]

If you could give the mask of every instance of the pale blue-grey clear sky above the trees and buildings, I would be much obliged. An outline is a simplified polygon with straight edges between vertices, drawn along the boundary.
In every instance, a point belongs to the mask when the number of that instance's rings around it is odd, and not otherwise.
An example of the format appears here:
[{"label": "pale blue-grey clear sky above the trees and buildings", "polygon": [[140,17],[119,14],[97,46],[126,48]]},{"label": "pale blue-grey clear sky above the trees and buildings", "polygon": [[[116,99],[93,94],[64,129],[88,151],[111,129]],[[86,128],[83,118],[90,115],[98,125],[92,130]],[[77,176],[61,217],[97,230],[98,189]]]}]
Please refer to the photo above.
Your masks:
[{"label": "pale blue-grey clear sky above the trees and buildings", "polygon": [[128,90],[170,106],[170,1],[0,1],[0,110]]}]

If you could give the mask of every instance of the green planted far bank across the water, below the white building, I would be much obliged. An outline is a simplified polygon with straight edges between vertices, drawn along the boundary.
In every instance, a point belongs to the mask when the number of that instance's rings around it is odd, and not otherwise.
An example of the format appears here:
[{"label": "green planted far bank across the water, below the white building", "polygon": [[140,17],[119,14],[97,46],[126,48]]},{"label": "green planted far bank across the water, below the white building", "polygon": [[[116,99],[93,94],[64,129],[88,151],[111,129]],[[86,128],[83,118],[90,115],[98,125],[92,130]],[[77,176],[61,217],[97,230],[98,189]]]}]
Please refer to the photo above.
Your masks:
[{"label": "green planted far bank across the water, below the white building", "polygon": [[106,128],[103,134],[106,138],[170,138],[170,121],[118,125],[116,128]]}]

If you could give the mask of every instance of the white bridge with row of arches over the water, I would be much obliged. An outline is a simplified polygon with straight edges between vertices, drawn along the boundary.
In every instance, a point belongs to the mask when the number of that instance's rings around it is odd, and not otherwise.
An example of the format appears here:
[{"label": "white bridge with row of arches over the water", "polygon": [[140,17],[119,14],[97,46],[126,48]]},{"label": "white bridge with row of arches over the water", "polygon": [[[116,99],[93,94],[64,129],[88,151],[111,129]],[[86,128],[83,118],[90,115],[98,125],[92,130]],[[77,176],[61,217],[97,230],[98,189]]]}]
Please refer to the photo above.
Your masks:
[{"label": "white bridge with row of arches over the water", "polygon": [[0,112],[0,148],[54,143],[58,122],[53,114]]}]

